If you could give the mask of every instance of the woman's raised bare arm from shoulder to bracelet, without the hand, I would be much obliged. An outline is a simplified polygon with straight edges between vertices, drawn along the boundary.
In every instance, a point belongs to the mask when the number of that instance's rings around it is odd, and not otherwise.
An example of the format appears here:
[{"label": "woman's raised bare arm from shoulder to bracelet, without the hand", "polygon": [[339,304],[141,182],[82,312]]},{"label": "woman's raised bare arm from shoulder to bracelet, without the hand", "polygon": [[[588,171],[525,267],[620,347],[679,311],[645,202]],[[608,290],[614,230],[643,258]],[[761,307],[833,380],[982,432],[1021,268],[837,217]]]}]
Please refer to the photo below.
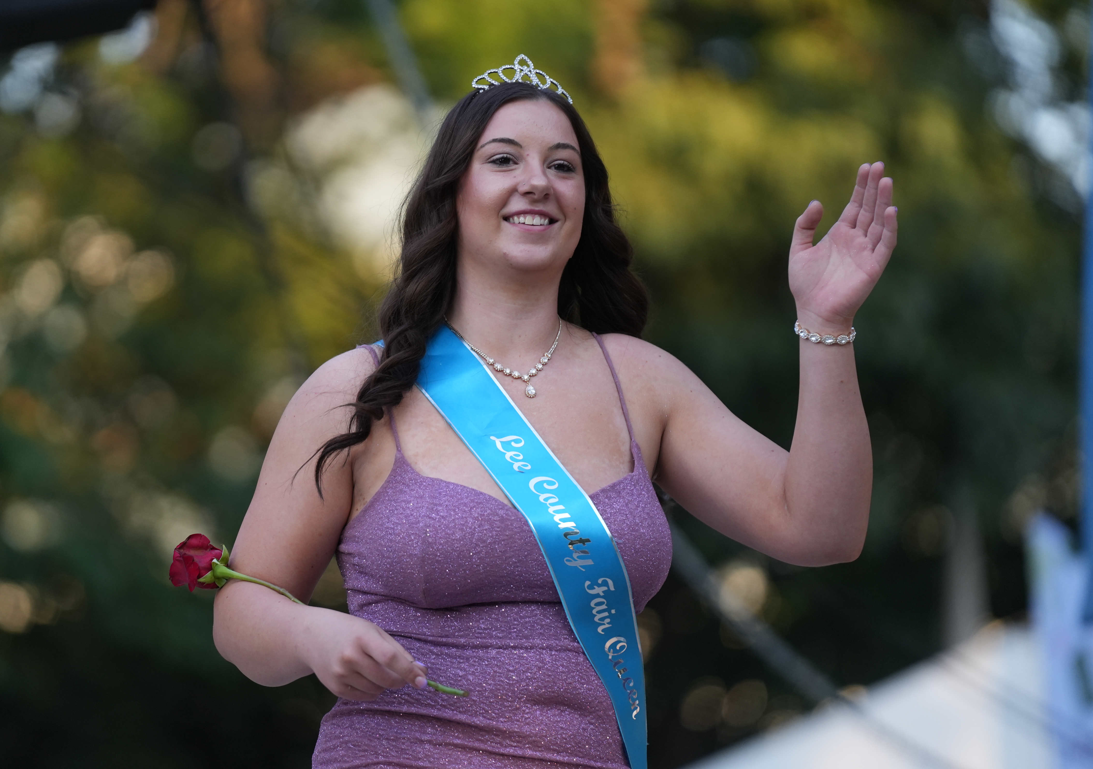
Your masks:
[{"label": "woman's raised bare arm from shoulder to bracelet, without the hand", "polygon": [[790,451],[744,424],[679,360],[653,353],[662,358],[649,368],[659,367],[672,380],[661,387],[678,393],[665,410],[655,480],[722,534],[786,563],[823,566],[860,552],[872,456],[853,348],[798,344],[801,393]]}]

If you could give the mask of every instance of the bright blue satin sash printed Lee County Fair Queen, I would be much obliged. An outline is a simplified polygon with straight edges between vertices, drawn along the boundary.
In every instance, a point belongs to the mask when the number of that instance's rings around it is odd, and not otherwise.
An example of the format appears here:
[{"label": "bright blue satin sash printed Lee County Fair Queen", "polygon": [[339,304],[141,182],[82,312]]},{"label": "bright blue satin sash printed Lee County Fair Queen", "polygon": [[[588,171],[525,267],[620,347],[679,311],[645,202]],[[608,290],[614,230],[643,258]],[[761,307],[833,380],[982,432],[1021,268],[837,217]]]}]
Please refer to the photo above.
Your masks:
[{"label": "bright blue satin sash printed Lee County Fair Queen", "polygon": [[630,766],[646,769],[645,672],[634,599],[599,510],[485,362],[447,327],[428,342],[418,388],[531,525],[573,632],[611,698]]}]

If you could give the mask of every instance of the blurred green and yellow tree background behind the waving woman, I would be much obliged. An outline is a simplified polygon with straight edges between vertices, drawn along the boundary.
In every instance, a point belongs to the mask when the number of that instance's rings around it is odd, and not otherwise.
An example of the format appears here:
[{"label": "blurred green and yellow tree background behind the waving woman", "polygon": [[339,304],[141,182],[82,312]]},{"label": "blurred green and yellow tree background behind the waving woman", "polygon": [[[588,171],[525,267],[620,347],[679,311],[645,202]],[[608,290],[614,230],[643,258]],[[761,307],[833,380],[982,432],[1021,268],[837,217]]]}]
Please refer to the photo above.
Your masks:
[{"label": "blurred green and yellow tree background behind the waving woman", "polygon": [[[1024,525],[1047,510],[1073,528],[1079,494],[1088,3],[97,5],[0,23],[12,766],[309,766],[333,697],[224,662],[212,593],[172,588],[171,552],[195,531],[232,544],[295,388],[376,336],[437,120],[520,52],[607,161],[653,293],[646,338],[787,448],[794,220],[819,198],[824,230],[863,162],[895,178],[900,246],[856,319],[865,553],[787,566],[669,504],[725,584],[851,693],[1025,620]],[[384,7],[420,79],[392,66]],[[336,568],[314,601],[344,606]],[[656,769],[812,707],[674,572],[640,624]]]}]

